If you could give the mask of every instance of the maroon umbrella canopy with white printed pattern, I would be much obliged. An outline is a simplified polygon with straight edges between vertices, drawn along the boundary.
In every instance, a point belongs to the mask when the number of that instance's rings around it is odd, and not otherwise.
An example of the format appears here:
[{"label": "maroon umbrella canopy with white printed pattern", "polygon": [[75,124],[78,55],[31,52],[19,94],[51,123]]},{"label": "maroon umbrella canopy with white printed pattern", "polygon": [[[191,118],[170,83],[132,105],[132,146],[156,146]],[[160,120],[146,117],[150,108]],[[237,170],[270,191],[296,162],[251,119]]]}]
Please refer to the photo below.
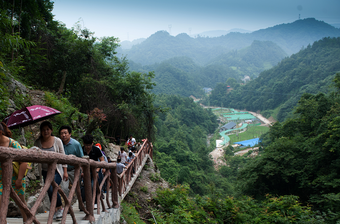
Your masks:
[{"label": "maroon umbrella canopy with white printed pattern", "polygon": [[8,128],[15,129],[19,128],[19,126],[25,127],[46,120],[60,113],[59,110],[48,106],[34,105],[15,111],[8,115],[2,122],[4,122]]}]

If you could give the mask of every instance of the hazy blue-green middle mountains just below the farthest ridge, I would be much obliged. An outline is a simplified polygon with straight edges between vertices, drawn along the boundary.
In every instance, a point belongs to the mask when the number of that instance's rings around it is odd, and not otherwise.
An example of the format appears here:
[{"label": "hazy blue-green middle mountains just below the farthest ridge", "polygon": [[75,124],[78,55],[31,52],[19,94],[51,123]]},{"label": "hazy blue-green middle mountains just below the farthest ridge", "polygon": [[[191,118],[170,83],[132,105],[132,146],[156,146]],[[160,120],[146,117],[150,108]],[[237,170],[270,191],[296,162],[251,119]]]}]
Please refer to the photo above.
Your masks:
[{"label": "hazy blue-green middle mountains just below the farthest ridge", "polygon": [[231,51],[212,59],[207,66],[199,66],[188,57],[174,57],[142,66],[130,61],[130,69],[137,72],[154,71],[156,86],[153,92],[200,96],[203,87],[215,87],[228,78],[239,80],[244,75],[257,77],[260,72],[276,65],[287,54],[271,41],[254,41],[239,51]]}]

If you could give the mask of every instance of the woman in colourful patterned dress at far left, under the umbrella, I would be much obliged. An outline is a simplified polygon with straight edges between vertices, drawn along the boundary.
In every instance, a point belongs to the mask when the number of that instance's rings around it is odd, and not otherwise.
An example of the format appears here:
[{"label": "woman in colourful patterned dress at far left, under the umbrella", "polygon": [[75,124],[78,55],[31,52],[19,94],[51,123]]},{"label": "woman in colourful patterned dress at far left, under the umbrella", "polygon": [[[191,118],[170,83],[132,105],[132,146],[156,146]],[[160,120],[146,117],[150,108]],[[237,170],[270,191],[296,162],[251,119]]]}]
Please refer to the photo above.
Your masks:
[{"label": "woman in colourful patterned dress at far left, under the umbrella", "polygon": [[[11,137],[12,137],[11,131],[7,128],[7,125],[5,123],[1,122],[0,123],[0,146],[21,148],[21,145],[17,141],[11,139]],[[19,196],[21,201],[27,206],[27,203],[25,201],[26,184],[25,184],[25,178],[24,178],[26,168],[27,168],[27,163],[20,162],[18,176],[16,176],[13,170],[12,187],[14,188],[14,191]],[[0,207],[1,207],[1,202],[2,202],[2,169],[0,165]],[[22,221],[23,223],[25,223],[27,216],[22,209],[20,209],[20,212],[22,215]]]}]

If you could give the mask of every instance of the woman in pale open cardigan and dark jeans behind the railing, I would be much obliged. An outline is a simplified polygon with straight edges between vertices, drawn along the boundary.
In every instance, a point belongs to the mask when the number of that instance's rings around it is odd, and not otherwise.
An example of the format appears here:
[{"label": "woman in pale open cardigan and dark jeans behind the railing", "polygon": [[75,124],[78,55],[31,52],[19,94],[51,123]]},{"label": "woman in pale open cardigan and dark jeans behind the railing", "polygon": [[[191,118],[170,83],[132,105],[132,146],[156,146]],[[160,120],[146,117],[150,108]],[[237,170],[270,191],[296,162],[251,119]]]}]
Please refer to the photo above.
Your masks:
[{"label": "woman in pale open cardigan and dark jeans behind the railing", "polygon": [[[44,121],[43,123],[41,123],[40,124],[40,137],[34,142],[34,146],[37,146],[41,150],[54,151],[54,152],[58,152],[60,154],[65,155],[62,140],[60,138],[55,137],[52,131],[53,131],[52,124],[49,121]],[[47,176],[48,165],[46,163],[39,164],[38,168],[39,168],[39,173],[43,176],[44,182],[45,182],[46,176]],[[57,183],[57,185],[59,185],[63,179],[65,181],[67,181],[68,179],[67,165],[57,164],[57,168],[54,174],[54,181]],[[48,193],[48,197],[51,202],[52,193],[53,193],[52,185],[48,189],[47,193]],[[61,218],[63,218],[62,200],[61,200],[59,193],[57,193],[57,204],[56,204],[55,212],[53,215],[53,219],[61,219]]]}]

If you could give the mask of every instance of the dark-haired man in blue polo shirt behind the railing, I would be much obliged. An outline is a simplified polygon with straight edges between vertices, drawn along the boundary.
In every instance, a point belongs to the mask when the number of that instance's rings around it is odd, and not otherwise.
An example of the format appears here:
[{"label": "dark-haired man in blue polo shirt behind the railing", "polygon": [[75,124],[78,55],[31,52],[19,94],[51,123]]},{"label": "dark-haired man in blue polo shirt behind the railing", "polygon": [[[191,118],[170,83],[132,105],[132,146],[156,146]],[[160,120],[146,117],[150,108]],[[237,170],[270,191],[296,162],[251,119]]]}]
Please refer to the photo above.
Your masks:
[{"label": "dark-haired man in blue polo shirt behind the railing", "polygon": [[[75,155],[79,158],[82,158],[84,156],[82,146],[77,140],[71,138],[71,132],[72,132],[72,128],[68,125],[64,125],[59,128],[59,134],[60,134],[60,138],[63,141],[65,154]],[[64,191],[65,195],[68,197],[70,193],[70,189],[68,189],[68,185],[70,184],[70,182],[73,185],[73,181],[74,181],[74,166],[67,165],[67,174],[69,176],[68,180],[62,181],[60,183],[60,186],[62,190]],[[80,174],[77,174],[77,175],[80,176]]]}]

